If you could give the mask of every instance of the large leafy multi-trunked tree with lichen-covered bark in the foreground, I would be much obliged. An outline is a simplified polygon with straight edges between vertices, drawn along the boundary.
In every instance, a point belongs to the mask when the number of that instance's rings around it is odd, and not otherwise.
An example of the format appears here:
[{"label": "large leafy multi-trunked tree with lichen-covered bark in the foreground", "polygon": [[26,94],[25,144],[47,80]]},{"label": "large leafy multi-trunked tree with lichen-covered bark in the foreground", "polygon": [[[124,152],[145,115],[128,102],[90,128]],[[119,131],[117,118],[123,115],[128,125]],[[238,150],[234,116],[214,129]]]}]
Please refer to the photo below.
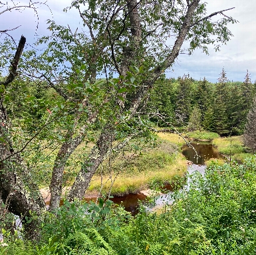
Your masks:
[{"label": "large leafy multi-trunked tree with lichen-covered bark in the foreground", "polygon": [[[45,52],[24,54],[22,76],[45,82],[46,88],[59,96],[55,107],[45,111],[34,133],[19,132],[19,143],[13,139],[15,129],[5,104],[9,89],[5,86],[15,86],[7,81],[17,74],[16,70],[1,82],[0,193],[9,210],[26,219],[45,210],[31,175],[36,171],[26,162],[31,155],[28,148],[37,151],[43,131],[47,141],[55,137],[59,144],[50,185],[49,210],[54,211],[61,199],[64,167],[76,147],[82,141],[94,141],[80,164],[67,196],[69,201],[82,199],[104,159],[147,132],[146,118],[141,113],[156,81],[184,51],[184,41],[190,43],[190,54],[195,48],[207,52],[207,44],[214,44],[218,50],[219,44],[232,36],[227,23],[235,23],[223,15],[227,10],[207,16],[206,4],[199,0],[80,0],[72,1],[70,8],[77,9],[84,30],[71,31],[49,21],[52,35],[39,41],[47,43]],[[214,22],[211,17],[215,15],[222,17]],[[170,41],[170,35],[174,41]],[[97,80],[100,74],[105,78]],[[29,228],[29,224],[25,226]],[[34,222],[31,230],[35,226]]]}]

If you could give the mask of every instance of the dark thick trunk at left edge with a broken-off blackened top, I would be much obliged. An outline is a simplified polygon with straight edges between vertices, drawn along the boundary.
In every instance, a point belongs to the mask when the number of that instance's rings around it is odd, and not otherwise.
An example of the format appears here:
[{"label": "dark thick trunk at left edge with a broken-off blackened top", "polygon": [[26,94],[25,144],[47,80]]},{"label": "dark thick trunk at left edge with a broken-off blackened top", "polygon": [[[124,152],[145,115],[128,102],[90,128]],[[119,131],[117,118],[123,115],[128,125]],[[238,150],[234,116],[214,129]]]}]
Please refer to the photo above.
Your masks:
[{"label": "dark thick trunk at left edge with a broken-off blackened top", "polygon": [[[26,39],[21,37],[15,57],[11,62],[9,76],[0,85],[6,88],[17,75],[19,58],[25,46]],[[45,203],[37,185],[31,179],[27,165],[19,153],[15,153],[11,141],[11,121],[4,106],[4,92],[0,94],[0,196],[6,209],[11,213],[27,219],[31,214],[40,216],[45,209]],[[27,216],[27,217],[26,217]],[[25,224],[29,238],[37,236],[37,222]]]}]

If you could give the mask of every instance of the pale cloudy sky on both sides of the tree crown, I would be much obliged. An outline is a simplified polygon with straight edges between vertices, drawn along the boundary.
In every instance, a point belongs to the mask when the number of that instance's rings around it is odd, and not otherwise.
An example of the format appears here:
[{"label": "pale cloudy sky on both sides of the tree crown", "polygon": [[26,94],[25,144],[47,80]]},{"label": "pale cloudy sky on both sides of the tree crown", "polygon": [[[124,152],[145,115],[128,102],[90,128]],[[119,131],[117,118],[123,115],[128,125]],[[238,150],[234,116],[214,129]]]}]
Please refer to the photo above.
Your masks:
[{"label": "pale cloudy sky on both sides of the tree crown", "polygon": [[[17,1],[14,1],[17,3]],[[29,0],[22,0],[20,4],[27,4]],[[21,25],[9,34],[19,40],[21,35],[27,38],[27,43],[32,44],[38,37],[49,33],[47,31],[47,19],[53,19],[57,24],[70,25],[75,29],[80,21],[76,10],[64,13],[64,7],[70,5],[71,0],[49,0],[47,5],[37,5],[39,17],[39,27],[37,29],[37,14],[31,9],[22,12],[12,11],[0,15],[0,30],[13,29]],[[217,82],[222,68],[227,72],[227,78],[233,81],[243,81],[247,70],[251,74],[251,80],[256,80],[256,1],[241,0],[208,0],[208,14],[223,9],[235,7],[231,11],[225,12],[239,21],[234,25],[229,25],[233,33],[231,41],[221,46],[220,52],[215,52],[213,46],[209,46],[209,55],[195,50],[193,55],[180,54],[173,70],[166,72],[167,77],[177,78],[184,74],[190,74],[196,80],[207,78],[210,82]],[[1,6],[1,5],[0,5]],[[0,13],[3,7],[0,8]],[[219,16],[220,18],[220,16]]]}]

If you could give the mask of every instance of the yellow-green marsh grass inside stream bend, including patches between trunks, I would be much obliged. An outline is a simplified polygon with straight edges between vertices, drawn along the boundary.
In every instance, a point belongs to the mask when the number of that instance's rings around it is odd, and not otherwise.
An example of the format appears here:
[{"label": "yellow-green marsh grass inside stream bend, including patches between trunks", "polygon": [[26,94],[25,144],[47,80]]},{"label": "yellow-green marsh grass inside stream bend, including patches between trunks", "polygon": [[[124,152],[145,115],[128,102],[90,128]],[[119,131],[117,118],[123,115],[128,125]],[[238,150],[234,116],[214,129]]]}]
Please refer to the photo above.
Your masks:
[{"label": "yellow-green marsh grass inside stream bend, including patches between trunks", "polygon": [[[159,145],[154,149],[146,149],[140,156],[130,157],[125,155],[125,158],[120,156],[112,161],[110,167],[108,166],[108,161],[104,162],[102,183],[106,183],[106,185],[102,190],[103,193],[108,193],[110,188],[111,182],[107,181],[109,176],[106,174],[109,170],[113,178],[120,172],[112,185],[112,194],[114,195],[137,193],[143,189],[148,189],[152,183],[172,183],[173,179],[183,177],[187,165],[179,147],[185,141],[175,133],[159,133],[158,137]],[[72,185],[76,174],[80,170],[80,162],[88,155],[92,146],[92,143],[82,143],[68,159],[64,169],[65,186]],[[40,187],[49,186],[57,150],[48,160],[40,162],[37,166],[38,173],[42,175],[39,180]],[[50,152],[51,149],[45,149],[43,154],[48,155]],[[132,153],[130,154],[132,155]],[[90,183],[89,193],[96,193],[101,187],[100,170],[97,171]]]}]

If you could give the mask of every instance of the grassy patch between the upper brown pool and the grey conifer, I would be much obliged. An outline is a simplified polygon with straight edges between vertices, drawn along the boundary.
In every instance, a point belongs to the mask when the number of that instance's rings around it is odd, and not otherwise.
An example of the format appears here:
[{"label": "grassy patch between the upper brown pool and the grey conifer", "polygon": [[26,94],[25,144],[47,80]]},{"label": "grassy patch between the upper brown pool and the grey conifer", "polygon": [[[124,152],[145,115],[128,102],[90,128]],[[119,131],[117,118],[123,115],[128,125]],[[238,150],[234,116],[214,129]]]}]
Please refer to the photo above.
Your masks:
[{"label": "grassy patch between the upper brown pool and the grey conifer", "polygon": [[234,161],[243,162],[250,155],[243,146],[241,135],[213,139],[213,145],[217,146],[219,153]]}]

